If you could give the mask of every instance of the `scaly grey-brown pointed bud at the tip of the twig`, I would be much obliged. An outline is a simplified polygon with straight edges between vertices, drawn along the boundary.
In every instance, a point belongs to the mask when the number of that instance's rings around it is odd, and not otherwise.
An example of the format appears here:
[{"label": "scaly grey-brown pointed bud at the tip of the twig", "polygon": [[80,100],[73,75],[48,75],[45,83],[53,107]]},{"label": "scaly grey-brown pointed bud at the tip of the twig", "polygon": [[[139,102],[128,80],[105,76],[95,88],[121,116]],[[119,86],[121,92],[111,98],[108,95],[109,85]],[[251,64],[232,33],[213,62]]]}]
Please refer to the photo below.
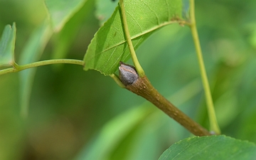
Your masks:
[{"label": "scaly grey-brown pointed bud at the tip of the twig", "polygon": [[119,63],[119,78],[124,85],[132,85],[139,78],[139,75],[132,65],[123,62]]}]

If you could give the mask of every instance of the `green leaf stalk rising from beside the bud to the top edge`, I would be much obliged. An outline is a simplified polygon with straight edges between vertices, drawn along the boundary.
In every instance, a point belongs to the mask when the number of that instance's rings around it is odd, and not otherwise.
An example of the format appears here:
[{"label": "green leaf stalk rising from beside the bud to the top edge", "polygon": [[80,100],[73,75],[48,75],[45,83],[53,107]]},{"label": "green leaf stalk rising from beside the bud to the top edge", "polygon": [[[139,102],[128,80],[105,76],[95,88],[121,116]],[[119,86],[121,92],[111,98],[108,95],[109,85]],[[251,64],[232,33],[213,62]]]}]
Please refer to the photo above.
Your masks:
[{"label": "green leaf stalk rising from beside the bud to the top edge", "polygon": [[132,56],[132,61],[134,63],[134,67],[136,68],[139,77],[142,78],[142,77],[145,76],[145,73],[144,73],[144,70],[143,70],[142,66],[139,64],[139,60],[138,60],[137,55],[136,55],[135,50],[134,50],[134,46],[132,45],[132,39],[131,39],[131,36],[129,34],[127,18],[126,18],[126,15],[125,15],[124,0],[119,1],[119,6],[120,6],[120,9],[121,9],[121,14],[122,14],[122,23],[124,25],[124,34],[125,34],[125,37],[126,37],[126,40],[127,40],[127,45],[129,47],[129,50],[130,50],[130,53],[131,53],[131,56]]}]

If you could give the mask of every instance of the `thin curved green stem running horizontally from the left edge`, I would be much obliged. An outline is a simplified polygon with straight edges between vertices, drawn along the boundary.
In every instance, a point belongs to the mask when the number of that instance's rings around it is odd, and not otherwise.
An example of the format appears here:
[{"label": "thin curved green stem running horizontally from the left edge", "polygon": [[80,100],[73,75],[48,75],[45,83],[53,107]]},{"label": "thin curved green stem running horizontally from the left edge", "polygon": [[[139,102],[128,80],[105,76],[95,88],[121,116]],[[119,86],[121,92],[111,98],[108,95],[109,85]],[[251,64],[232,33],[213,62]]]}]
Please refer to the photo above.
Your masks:
[{"label": "thin curved green stem running horizontally from the left edge", "polygon": [[0,70],[0,75],[4,75],[6,73],[16,73],[21,70],[26,70],[28,68],[36,68],[42,65],[52,65],[52,64],[59,64],[59,63],[67,63],[67,64],[74,64],[74,65],[84,65],[83,60],[71,60],[71,59],[54,59],[54,60],[42,60],[36,63],[29,63],[26,65],[14,65],[14,68],[7,68],[4,70]]}]

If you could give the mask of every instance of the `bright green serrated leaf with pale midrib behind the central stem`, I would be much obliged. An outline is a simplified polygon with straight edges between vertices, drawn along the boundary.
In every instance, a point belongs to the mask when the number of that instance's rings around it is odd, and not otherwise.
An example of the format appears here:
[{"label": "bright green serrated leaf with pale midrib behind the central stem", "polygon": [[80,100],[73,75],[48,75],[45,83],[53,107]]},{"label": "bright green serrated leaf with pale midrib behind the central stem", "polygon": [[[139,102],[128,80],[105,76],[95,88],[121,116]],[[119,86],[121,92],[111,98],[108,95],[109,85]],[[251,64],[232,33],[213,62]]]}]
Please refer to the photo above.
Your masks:
[{"label": "bright green serrated leaf with pale midrib behind the central stem", "polygon": [[[181,19],[181,0],[124,1],[129,32],[134,48],[156,29]],[[129,49],[124,40],[119,6],[111,18],[100,28],[85,53],[84,70],[98,70],[104,75],[115,72],[119,61],[129,58]]]}]

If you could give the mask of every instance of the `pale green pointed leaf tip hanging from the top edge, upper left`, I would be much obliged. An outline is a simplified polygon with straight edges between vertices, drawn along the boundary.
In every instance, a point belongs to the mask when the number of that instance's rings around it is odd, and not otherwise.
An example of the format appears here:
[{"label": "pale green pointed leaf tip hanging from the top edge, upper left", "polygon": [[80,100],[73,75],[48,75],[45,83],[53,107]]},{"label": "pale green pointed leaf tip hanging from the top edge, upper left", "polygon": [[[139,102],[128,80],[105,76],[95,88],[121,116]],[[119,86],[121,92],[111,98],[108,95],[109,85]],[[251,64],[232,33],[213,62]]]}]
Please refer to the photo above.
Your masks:
[{"label": "pale green pointed leaf tip hanging from the top edge, upper left", "polygon": [[54,31],[60,31],[64,24],[85,4],[86,0],[46,0]]}]

